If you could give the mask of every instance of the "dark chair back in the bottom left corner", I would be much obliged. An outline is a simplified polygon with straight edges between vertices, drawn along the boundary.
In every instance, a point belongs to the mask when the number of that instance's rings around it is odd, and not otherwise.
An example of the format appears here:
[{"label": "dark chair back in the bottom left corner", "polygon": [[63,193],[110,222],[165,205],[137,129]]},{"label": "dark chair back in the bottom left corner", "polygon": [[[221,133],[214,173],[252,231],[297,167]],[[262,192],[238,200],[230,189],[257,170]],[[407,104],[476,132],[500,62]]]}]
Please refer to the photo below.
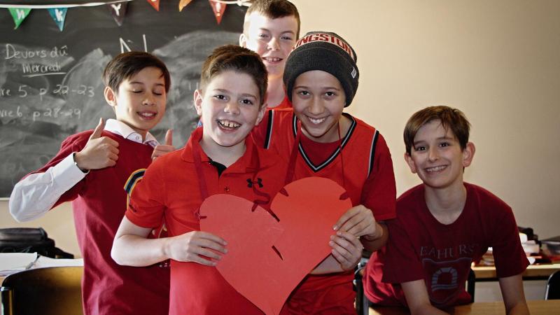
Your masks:
[{"label": "dark chair back in the bottom left corner", "polygon": [[10,274],[2,282],[3,315],[83,314],[83,267],[46,267]]}]

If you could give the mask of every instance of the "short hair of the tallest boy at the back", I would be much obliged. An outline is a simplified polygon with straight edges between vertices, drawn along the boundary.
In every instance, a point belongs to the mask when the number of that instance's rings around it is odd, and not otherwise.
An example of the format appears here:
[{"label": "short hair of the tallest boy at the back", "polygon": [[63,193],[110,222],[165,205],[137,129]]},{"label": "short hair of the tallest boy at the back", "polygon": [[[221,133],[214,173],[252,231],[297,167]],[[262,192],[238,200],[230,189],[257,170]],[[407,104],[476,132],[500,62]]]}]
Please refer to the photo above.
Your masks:
[{"label": "short hair of the tallest boy at the back", "polygon": [[243,24],[243,31],[248,28],[249,16],[253,13],[260,13],[269,19],[283,18],[286,16],[293,16],[297,21],[297,32],[295,39],[300,38],[300,13],[297,8],[288,0],[255,0],[245,13],[245,22]]}]

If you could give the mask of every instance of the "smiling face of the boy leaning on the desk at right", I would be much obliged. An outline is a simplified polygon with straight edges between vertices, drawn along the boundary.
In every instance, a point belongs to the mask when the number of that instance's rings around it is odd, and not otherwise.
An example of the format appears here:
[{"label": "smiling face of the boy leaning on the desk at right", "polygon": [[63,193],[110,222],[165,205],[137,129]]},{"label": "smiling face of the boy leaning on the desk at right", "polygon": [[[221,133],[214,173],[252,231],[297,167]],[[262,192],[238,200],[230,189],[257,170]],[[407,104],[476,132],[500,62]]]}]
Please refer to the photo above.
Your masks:
[{"label": "smiling face of the boy leaning on the desk at right", "polygon": [[462,188],[463,167],[470,165],[474,153],[472,143],[462,149],[451,129],[446,130],[440,120],[432,120],[416,132],[405,160],[429,188]]}]

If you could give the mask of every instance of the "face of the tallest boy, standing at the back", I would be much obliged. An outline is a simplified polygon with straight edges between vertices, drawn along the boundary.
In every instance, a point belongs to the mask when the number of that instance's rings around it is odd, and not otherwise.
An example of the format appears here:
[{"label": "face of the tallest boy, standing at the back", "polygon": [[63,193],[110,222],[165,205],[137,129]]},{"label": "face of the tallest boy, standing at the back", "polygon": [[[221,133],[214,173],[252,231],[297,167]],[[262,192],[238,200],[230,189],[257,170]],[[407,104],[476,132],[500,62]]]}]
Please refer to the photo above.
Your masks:
[{"label": "face of the tallest boy, standing at the back", "polygon": [[295,45],[297,20],[293,15],[271,19],[255,12],[249,21],[239,45],[260,55],[269,79],[282,78],[286,59]]}]

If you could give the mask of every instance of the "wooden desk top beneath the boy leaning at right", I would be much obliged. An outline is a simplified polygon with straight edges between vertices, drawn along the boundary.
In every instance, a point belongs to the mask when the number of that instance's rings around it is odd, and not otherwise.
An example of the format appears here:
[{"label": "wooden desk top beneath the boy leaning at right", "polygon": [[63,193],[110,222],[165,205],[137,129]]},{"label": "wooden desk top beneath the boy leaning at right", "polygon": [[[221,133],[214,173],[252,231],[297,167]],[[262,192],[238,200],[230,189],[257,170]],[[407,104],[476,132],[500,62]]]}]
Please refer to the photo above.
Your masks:
[{"label": "wooden desk top beneath the boy leaning at right", "polygon": [[[527,301],[531,315],[560,314],[560,300]],[[505,315],[503,302],[479,302],[453,307],[448,310],[454,315]],[[370,315],[405,315],[410,314],[404,307],[370,307]]]}]

